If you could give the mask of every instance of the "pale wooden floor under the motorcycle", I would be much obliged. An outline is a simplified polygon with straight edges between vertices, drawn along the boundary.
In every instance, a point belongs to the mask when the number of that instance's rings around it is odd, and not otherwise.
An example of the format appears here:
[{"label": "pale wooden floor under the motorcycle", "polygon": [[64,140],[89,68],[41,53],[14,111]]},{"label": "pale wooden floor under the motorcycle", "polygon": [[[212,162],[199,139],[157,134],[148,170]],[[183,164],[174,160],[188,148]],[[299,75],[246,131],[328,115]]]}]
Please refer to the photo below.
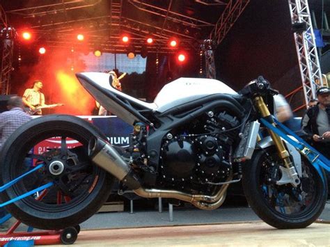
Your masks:
[{"label": "pale wooden floor under the motorcycle", "polygon": [[330,246],[330,224],[298,230],[262,222],[88,230],[72,246]]}]

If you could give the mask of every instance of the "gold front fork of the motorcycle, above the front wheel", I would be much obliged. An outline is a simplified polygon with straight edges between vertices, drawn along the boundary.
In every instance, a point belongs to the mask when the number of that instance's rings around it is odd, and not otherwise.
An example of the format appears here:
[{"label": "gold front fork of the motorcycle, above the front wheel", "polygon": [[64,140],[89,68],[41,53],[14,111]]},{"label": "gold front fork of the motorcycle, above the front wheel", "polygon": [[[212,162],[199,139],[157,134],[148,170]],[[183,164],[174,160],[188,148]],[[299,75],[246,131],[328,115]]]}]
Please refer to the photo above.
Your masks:
[{"label": "gold front fork of the motorcycle, above the front wheel", "polygon": [[[266,118],[271,115],[269,113],[269,109],[268,109],[267,105],[265,104],[264,100],[262,99],[262,97],[260,97],[260,96],[255,97],[254,104],[257,107],[257,109],[259,110],[262,118]],[[275,126],[274,121],[272,122],[272,125]],[[285,168],[287,168],[288,174],[290,175],[290,177],[292,177],[291,184],[294,186],[297,186],[297,184],[299,184],[300,181],[299,181],[297,172],[290,160],[290,155],[289,155],[288,150],[286,150],[280,136],[278,136],[277,134],[272,132],[272,130],[270,130],[270,129],[267,129],[267,130],[274,141],[274,145],[278,151],[278,154],[280,155],[281,159],[283,159],[283,161],[284,161],[284,165],[285,165]]]}]

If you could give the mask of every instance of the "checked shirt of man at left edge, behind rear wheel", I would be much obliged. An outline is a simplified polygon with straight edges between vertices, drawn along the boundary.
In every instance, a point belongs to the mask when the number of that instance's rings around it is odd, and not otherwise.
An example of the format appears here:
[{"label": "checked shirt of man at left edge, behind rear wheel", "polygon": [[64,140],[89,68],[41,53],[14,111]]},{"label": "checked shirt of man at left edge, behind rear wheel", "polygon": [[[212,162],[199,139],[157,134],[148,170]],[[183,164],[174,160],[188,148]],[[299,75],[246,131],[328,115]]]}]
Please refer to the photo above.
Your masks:
[{"label": "checked shirt of man at left edge, behind rear wheel", "polygon": [[31,120],[31,115],[25,113],[23,109],[15,107],[10,111],[0,114],[0,150],[7,138],[25,122]]}]

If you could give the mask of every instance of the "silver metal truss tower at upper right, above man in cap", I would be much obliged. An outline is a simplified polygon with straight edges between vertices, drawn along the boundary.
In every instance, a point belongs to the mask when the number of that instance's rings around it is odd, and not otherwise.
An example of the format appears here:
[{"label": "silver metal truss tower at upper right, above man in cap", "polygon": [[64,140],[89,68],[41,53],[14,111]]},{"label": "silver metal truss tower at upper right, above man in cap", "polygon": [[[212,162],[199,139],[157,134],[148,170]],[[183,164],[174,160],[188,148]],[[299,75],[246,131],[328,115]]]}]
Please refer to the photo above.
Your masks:
[{"label": "silver metal truss tower at upper right, above man in cap", "polygon": [[317,56],[308,0],[289,0],[289,6],[307,106],[311,99],[315,99],[317,88],[323,86],[322,73]]}]

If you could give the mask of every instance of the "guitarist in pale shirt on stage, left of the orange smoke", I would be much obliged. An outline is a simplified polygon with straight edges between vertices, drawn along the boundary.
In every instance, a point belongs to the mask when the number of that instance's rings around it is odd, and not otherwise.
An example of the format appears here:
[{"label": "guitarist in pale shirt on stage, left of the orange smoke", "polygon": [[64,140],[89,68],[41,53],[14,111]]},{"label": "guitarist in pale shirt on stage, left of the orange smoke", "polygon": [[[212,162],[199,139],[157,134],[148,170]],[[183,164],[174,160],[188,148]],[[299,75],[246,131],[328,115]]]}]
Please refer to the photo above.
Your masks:
[{"label": "guitarist in pale shirt on stage, left of the orange smoke", "polygon": [[29,107],[31,115],[42,115],[42,111],[38,106],[47,106],[45,104],[45,95],[41,93],[42,89],[42,81],[36,80],[33,81],[33,87],[27,88],[24,91],[24,95],[22,97],[23,103],[26,107]]}]

